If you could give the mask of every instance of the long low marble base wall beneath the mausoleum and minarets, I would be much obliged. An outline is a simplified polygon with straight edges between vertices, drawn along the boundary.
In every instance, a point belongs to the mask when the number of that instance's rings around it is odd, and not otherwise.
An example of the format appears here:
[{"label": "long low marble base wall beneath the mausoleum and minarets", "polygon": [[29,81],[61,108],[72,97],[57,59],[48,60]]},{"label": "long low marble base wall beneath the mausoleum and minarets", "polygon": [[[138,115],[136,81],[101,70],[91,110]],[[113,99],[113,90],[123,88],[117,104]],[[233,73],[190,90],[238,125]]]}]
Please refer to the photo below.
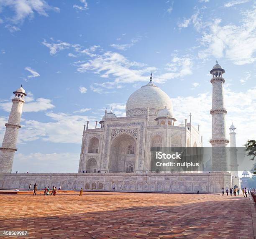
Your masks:
[{"label": "long low marble base wall beneath the mausoleum and minarets", "polygon": [[0,189],[28,189],[34,183],[38,189],[61,185],[63,190],[95,191],[152,191],[219,193],[222,187],[230,188],[231,174],[213,173],[0,173]]}]

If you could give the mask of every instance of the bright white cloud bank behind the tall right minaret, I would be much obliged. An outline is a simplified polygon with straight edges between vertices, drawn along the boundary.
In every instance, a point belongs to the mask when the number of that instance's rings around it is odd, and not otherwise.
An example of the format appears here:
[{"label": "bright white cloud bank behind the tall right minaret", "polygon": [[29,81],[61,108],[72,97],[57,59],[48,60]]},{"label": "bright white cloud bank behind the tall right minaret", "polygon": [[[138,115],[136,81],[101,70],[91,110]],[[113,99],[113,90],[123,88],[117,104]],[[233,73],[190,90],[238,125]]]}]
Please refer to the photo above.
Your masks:
[{"label": "bright white cloud bank behind the tall right minaret", "polygon": [[[246,92],[232,92],[224,88],[226,115],[226,133],[229,138],[229,126],[233,124],[237,128],[237,147],[242,147],[246,140],[255,138],[254,128],[256,120],[256,87]],[[203,135],[204,146],[210,147],[212,117],[212,95],[209,92],[198,94],[196,97],[176,97],[172,99],[174,105],[174,117],[178,120],[191,112],[192,124],[200,124],[200,134]],[[200,102],[200,104],[199,104]]]}]

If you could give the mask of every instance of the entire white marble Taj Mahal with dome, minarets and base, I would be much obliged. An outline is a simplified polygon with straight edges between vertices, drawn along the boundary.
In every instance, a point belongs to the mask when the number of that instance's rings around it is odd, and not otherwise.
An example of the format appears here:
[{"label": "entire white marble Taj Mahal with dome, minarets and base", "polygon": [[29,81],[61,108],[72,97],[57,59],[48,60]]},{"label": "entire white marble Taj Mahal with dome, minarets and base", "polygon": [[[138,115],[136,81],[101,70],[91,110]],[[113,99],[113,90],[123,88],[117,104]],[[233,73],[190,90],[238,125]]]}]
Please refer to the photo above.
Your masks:
[{"label": "entire white marble Taj Mahal with dome, minarets and base", "polygon": [[[0,188],[26,188],[37,182],[62,185],[62,188],[85,190],[158,192],[219,192],[222,187],[239,185],[236,152],[231,152],[231,172],[221,148],[236,147],[236,128],[230,126],[226,136],[223,84],[225,70],[216,62],[210,70],[212,78],[212,145],[211,172],[167,173],[151,169],[151,148],[202,147],[200,125],[192,124],[192,115],[184,123],[177,122],[172,100],[154,84],[152,73],[148,84],[131,94],[126,102],[126,117],[105,110],[95,128],[84,124],[78,173],[10,174],[20,129],[20,117],[26,92],[18,88],[0,147]],[[99,125],[98,125],[99,124]],[[204,165],[205,166],[205,165]]]}]

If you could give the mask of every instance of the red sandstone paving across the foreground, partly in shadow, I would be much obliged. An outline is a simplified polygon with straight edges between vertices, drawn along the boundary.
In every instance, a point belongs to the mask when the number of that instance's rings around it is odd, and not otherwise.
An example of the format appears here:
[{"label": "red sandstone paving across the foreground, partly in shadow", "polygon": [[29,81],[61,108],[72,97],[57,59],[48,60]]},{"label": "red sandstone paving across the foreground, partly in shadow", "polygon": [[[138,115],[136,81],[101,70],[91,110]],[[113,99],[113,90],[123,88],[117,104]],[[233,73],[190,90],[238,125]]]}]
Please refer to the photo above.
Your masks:
[{"label": "red sandstone paving across the foreground, partly in shadow", "polygon": [[242,196],[78,194],[0,195],[0,231],[58,239],[254,238],[250,200]]}]

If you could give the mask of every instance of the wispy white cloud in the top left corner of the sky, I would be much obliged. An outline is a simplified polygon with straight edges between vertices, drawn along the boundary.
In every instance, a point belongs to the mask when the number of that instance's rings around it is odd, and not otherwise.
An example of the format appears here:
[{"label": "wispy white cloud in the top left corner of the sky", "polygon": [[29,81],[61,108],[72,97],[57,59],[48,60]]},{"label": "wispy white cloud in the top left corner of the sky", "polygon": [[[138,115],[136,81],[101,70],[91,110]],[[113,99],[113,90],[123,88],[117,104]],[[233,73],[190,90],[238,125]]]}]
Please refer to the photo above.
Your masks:
[{"label": "wispy white cloud in the top left corner of the sky", "polygon": [[47,17],[49,10],[59,12],[59,8],[48,5],[44,0],[0,0],[0,12],[4,8],[10,8],[14,12],[11,18],[13,23],[23,23],[26,18],[33,18],[35,13]]}]

